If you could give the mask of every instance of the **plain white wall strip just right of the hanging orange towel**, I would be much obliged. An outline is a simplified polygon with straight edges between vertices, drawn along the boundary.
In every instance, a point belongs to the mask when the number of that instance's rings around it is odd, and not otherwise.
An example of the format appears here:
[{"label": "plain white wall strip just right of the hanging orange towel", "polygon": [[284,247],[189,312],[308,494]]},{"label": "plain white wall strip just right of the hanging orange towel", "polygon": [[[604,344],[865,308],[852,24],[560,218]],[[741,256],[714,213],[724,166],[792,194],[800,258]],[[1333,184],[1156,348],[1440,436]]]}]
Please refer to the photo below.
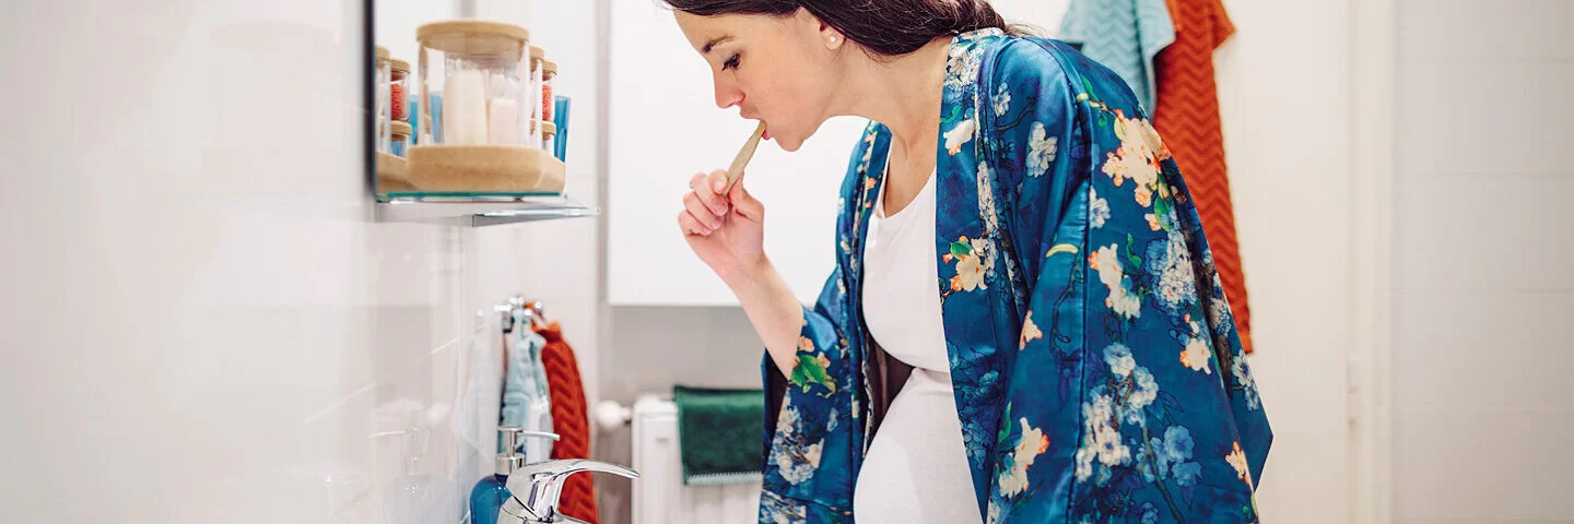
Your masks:
[{"label": "plain white wall strip just right of the hanging orange towel", "polygon": [[[1273,425],[1264,522],[1346,522],[1350,9],[1226,0],[1218,94],[1251,297],[1251,368]],[[1185,173],[1185,164],[1180,165]]]}]

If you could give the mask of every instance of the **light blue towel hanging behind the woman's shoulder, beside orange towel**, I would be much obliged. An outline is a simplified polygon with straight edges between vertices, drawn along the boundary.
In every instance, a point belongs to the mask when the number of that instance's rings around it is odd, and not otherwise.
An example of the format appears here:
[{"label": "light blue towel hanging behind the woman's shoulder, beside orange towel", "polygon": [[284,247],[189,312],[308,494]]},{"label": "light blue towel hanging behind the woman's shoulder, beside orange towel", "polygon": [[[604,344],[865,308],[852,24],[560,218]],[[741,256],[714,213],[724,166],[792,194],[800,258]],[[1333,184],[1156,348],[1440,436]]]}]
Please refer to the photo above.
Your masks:
[{"label": "light blue towel hanging behind the woman's shoulder, beside orange towel", "polygon": [[1072,0],[1056,38],[1119,74],[1147,112],[1158,96],[1154,57],[1176,41],[1165,0]]}]

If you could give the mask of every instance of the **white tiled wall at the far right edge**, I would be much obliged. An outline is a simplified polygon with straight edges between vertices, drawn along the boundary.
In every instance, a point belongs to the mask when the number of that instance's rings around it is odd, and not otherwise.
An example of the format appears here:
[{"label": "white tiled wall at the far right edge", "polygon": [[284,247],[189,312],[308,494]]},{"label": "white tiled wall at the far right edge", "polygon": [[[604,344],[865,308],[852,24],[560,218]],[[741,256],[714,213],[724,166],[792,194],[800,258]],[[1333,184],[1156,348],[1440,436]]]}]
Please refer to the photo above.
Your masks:
[{"label": "white tiled wall at the far right edge", "polygon": [[1571,27],[1569,2],[1399,2],[1398,522],[1574,522]]}]

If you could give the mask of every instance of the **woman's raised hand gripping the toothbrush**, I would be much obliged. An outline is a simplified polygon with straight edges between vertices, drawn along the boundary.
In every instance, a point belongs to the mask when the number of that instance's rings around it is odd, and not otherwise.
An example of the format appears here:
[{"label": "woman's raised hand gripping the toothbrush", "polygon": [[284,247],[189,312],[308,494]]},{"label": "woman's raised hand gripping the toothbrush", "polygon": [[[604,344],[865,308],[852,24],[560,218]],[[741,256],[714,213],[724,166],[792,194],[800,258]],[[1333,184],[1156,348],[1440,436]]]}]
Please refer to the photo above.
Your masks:
[{"label": "woman's raised hand gripping the toothbrush", "polygon": [[694,255],[732,283],[767,266],[765,206],[741,183],[724,195],[726,189],[724,170],[694,175],[683,195],[678,227]]}]

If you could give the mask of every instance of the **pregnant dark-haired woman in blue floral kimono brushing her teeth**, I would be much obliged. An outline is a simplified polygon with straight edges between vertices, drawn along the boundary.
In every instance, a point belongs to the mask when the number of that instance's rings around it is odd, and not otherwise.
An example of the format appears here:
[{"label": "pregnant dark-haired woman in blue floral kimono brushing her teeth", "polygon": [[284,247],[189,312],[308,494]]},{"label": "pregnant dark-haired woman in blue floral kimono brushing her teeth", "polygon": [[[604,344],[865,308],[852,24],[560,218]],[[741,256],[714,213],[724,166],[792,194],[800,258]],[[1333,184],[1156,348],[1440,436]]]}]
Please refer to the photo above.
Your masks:
[{"label": "pregnant dark-haired woman in blue floral kimono brushing her teeth", "polygon": [[812,310],[743,184],[696,175],[678,214],[767,346],[762,522],[1258,519],[1269,425],[1180,173],[1114,74],[982,0],[667,3],[716,105],[781,148],[874,121]]}]

